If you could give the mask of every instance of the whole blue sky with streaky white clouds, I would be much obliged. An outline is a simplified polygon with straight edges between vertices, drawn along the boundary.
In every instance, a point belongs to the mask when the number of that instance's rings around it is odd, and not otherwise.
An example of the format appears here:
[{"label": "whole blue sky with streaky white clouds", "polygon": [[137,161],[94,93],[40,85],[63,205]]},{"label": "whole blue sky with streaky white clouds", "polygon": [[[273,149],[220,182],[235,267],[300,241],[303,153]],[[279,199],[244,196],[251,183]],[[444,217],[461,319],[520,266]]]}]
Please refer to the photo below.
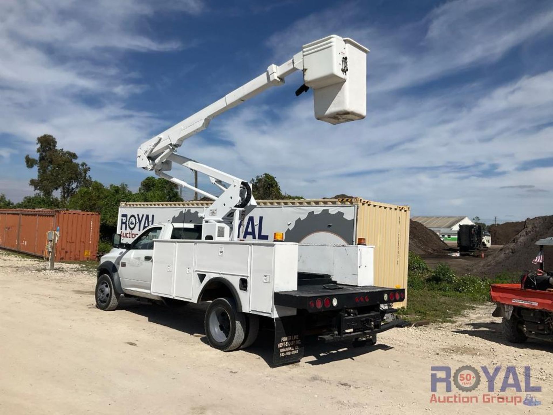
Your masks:
[{"label": "whole blue sky with streaky white clouds", "polygon": [[328,34],[371,49],[365,120],[316,121],[294,74],[179,152],[309,198],[487,221],[553,213],[548,1],[3,0],[0,192],[33,193],[24,155],[44,133],[94,179],[137,188],[140,143]]}]

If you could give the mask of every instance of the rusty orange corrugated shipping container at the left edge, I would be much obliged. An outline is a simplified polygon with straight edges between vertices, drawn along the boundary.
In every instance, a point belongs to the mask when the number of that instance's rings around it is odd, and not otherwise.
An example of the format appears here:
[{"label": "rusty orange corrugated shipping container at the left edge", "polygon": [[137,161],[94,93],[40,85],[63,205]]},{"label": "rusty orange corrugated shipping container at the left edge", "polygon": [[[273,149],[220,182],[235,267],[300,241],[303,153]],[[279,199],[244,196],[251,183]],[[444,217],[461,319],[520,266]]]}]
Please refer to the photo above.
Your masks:
[{"label": "rusty orange corrugated shipping container at the left edge", "polygon": [[100,215],[79,210],[0,209],[0,248],[41,257],[46,234],[58,226],[56,261],[96,259]]}]

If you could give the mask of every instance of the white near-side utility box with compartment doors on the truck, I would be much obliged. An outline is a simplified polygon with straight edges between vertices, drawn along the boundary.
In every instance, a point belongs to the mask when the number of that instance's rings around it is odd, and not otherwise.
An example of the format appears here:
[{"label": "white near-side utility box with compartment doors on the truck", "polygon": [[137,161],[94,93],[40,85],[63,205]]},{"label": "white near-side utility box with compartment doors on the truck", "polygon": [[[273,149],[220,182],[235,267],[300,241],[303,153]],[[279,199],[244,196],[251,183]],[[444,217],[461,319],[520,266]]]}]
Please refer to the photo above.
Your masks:
[{"label": "white near-side utility box with compartment doors on the truck", "polygon": [[[156,240],[152,294],[197,302],[213,278],[231,283],[243,312],[278,317],[275,289],[297,288],[298,244],[286,242]],[[246,290],[240,280],[246,279]],[[276,287],[276,288],[275,288]]]}]

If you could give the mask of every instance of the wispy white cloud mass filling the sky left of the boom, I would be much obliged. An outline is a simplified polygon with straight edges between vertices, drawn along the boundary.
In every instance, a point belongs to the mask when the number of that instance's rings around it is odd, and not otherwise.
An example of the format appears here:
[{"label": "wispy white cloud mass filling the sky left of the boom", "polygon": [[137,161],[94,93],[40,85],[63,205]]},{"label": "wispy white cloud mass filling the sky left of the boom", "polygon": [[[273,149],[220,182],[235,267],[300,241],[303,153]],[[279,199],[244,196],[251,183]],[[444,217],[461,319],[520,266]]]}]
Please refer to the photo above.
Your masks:
[{"label": "wispy white cloud mass filling the sky left of the boom", "polygon": [[147,19],[203,8],[199,0],[0,2],[0,133],[13,137],[12,147],[30,149],[50,133],[89,162],[132,160],[158,121],[126,107],[145,85],[119,57],[194,44],[154,37]]}]

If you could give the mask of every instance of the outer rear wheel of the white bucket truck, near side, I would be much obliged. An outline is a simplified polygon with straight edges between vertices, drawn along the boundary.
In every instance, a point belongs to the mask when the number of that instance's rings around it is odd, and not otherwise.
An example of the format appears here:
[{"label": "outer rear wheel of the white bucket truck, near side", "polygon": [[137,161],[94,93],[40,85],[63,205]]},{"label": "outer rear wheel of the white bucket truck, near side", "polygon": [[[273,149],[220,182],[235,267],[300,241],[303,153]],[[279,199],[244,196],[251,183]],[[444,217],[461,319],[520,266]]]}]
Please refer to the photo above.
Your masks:
[{"label": "outer rear wheel of the white bucket truck, near side", "polygon": [[207,308],[204,321],[211,347],[223,351],[236,350],[246,338],[246,317],[238,312],[232,298],[217,298]]}]

